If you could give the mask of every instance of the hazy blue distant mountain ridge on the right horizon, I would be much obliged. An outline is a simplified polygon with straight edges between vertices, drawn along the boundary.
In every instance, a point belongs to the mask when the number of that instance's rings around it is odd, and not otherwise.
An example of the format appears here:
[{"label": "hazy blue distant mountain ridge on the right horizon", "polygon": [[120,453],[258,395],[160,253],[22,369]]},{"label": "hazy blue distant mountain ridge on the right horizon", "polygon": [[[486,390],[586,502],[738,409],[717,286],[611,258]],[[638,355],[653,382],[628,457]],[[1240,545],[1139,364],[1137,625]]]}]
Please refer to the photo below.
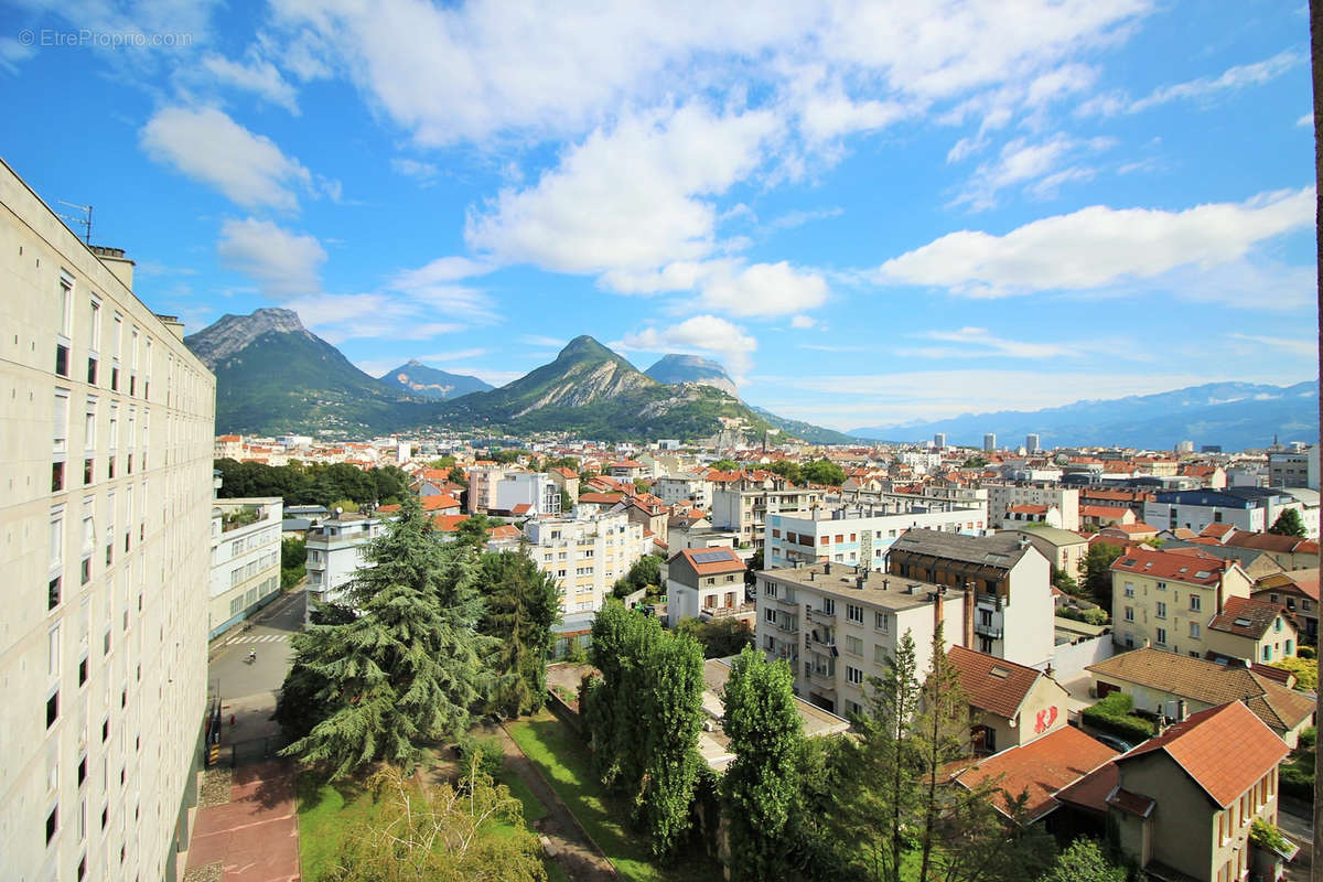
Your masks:
[{"label": "hazy blue distant mountain ridge on the right horizon", "polygon": [[1183,440],[1196,448],[1266,447],[1281,440],[1318,442],[1316,380],[1290,386],[1216,382],[1151,395],[1077,401],[1036,411],[963,414],[923,423],[871,426],[852,435],[875,439],[930,440],[945,432],[951,444],[980,446],[984,432],[1017,447],[1036,434],[1044,447],[1139,447],[1170,450]]}]

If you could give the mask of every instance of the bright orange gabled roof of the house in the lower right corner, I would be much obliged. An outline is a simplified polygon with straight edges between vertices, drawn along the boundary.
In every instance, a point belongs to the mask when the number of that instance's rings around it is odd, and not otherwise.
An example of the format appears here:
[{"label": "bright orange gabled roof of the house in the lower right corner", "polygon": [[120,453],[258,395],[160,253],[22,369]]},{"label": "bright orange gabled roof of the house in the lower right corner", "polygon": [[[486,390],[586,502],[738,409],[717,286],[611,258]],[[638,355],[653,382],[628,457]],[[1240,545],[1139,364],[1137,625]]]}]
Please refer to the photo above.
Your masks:
[{"label": "bright orange gabled roof of the house in the lower right corner", "polygon": [[1170,756],[1225,808],[1282,762],[1290,750],[1249,707],[1232,701],[1192,714],[1117,762],[1132,763],[1155,752]]}]

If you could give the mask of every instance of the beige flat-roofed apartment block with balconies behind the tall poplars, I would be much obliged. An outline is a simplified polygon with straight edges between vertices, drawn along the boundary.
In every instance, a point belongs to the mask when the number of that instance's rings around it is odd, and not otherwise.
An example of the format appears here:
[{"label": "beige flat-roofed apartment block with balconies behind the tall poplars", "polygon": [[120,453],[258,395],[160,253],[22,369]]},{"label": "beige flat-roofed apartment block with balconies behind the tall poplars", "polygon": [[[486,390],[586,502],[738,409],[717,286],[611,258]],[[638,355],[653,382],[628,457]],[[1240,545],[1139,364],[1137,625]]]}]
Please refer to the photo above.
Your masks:
[{"label": "beige flat-roofed apartment block with balconies behind the tall poplars", "polygon": [[863,713],[869,677],[906,633],[923,676],[937,623],[947,645],[966,645],[972,627],[971,594],[831,561],[762,570],[757,587],[758,647],[790,662],[796,696],[844,715]]}]

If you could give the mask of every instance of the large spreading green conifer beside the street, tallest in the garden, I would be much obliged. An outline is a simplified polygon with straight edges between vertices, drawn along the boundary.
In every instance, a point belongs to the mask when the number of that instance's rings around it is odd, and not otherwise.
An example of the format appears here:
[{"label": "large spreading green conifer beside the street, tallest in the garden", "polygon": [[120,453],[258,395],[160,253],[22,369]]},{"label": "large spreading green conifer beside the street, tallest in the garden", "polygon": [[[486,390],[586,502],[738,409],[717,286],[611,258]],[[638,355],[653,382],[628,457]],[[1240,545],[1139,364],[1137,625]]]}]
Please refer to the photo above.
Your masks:
[{"label": "large spreading green conifer beside the street, tallest in the garden", "polygon": [[405,499],[365,559],[372,566],[349,590],[361,615],[295,635],[299,681],[282,690],[282,702],[318,709],[318,722],[282,754],[324,764],[331,778],[376,760],[409,768],[422,743],[467,729],[495,648],[476,632],[472,551],[443,543],[417,499]]}]

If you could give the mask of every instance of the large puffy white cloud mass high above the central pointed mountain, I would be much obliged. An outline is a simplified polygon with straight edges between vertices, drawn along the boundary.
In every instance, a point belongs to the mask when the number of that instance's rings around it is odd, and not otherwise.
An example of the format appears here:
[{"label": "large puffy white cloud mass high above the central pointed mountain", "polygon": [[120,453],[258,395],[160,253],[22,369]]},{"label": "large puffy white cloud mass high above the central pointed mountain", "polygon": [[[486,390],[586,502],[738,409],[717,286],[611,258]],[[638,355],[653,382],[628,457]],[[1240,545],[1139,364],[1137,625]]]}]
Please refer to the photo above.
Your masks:
[{"label": "large puffy white cloud mass high above the central pointed mountain", "polygon": [[558,272],[650,271],[714,249],[710,198],[761,161],[777,119],[701,103],[630,114],[523,190],[470,213],[464,238],[493,259]]}]

